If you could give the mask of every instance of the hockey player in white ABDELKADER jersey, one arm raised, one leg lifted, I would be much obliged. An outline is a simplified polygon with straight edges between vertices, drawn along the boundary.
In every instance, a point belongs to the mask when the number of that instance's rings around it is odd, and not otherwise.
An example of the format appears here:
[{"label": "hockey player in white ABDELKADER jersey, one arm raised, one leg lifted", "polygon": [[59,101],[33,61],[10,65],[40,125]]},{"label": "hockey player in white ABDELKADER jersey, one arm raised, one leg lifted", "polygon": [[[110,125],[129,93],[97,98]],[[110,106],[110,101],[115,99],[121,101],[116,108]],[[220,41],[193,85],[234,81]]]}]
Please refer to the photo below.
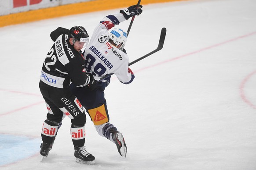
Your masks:
[{"label": "hockey player in white ABDELKADER jersey, one arm raised, one leg lifted", "polygon": [[[106,74],[115,74],[121,83],[129,84],[135,78],[128,67],[129,58],[124,50],[127,34],[121,28],[113,28],[120,22],[142,13],[142,6],[136,5],[121,10],[116,14],[106,16],[96,26],[90,43],[84,51],[86,71],[94,75],[95,80],[100,80]],[[110,29],[112,31],[110,31]],[[110,123],[110,116],[104,97],[104,89],[110,83],[110,77],[98,81],[96,89],[77,88],[71,84],[71,90],[85,107],[93,121],[99,135],[117,145],[121,156],[126,156],[127,147],[123,135]]]}]

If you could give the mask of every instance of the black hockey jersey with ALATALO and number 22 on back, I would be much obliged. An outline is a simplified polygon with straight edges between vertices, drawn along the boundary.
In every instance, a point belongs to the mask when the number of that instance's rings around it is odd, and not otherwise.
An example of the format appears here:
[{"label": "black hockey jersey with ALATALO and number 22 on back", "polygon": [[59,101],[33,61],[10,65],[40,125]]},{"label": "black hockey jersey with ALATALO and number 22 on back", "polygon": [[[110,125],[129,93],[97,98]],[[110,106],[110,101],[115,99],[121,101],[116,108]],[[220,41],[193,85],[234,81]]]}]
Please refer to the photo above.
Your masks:
[{"label": "black hockey jersey with ALATALO and number 22 on back", "polygon": [[55,41],[48,52],[40,80],[57,88],[63,88],[70,84],[70,80],[77,87],[88,85],[89,78],[85,74],[84,57],[70,45],[68,29],[57,28],[51,32],[51,39]]}]

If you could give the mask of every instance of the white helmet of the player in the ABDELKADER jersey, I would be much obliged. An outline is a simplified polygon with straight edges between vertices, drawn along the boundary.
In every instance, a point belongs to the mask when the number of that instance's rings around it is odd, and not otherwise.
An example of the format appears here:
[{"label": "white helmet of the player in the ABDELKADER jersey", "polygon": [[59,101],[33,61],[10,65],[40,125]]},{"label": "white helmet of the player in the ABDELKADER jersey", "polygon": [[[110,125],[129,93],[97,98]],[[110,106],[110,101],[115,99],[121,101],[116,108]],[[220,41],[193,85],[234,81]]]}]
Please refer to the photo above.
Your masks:
[{"label": "white helmet of the player in the ABDELKADER jersey", "polygon": [[127,34],[121,28],[114,28],[110,32],[109,41],[114,43],[118,49],[123,50],[127,41]]}]

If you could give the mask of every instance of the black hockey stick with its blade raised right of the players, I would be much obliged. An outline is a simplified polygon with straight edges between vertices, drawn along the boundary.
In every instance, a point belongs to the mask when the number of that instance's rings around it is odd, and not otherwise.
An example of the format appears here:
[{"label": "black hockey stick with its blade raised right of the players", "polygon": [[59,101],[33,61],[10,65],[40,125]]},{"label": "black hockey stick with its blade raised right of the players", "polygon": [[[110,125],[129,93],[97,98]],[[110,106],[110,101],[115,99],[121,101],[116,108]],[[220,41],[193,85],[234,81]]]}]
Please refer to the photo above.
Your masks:
[{"label": "black hockey stick with its blade raised right of the players", "polygon": [[[138,61],[156,53],[157,51],[159,50],[162,50],[163,46],[164,46],[164,43],[165,43],[165,35],[166,35],[166,28],[162,28],[161,30],[161,34],[160,34],[160,39],[159,39],[159,43],[158,43],[158,46],[155,50],[151,51],[150,53],[147,53],[146,55],[144,55],[143,57],[139,57],[138,59],[132,61],[131,63],[128,64],[128,66],[132,65],[132,64],[135,64],[137,63]],[[104,77],[102,77],[101,79],[99,79],[99,81],[102,81],[103,79],[105,78],[108,78],[110,77],[111,75],[113,75],[113,73],[111,74],[106,74]]]}]

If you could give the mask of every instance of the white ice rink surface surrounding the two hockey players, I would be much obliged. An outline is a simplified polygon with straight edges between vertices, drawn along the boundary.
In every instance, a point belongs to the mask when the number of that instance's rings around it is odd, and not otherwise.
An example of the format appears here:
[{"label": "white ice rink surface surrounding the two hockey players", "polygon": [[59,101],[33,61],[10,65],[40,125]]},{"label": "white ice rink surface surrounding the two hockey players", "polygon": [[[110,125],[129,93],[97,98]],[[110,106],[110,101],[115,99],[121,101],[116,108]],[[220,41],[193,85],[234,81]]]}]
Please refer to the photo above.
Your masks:
[{"label": "white ice rink surface surrounding the two hockey players", "polygon": [[131,66],[132,84],[112,76],[105,90],[127,158],[87,116],[85,145],[95,165],[75,162],[69,118],[40,163],[47,110],[38,82],[51,31],[82,25],[91,35],[119,10],[0,28],[0,169],[256,170],[256,0],[144,5],[128,36],[130,61],[157,47],[163,27],[164,48]]}]

